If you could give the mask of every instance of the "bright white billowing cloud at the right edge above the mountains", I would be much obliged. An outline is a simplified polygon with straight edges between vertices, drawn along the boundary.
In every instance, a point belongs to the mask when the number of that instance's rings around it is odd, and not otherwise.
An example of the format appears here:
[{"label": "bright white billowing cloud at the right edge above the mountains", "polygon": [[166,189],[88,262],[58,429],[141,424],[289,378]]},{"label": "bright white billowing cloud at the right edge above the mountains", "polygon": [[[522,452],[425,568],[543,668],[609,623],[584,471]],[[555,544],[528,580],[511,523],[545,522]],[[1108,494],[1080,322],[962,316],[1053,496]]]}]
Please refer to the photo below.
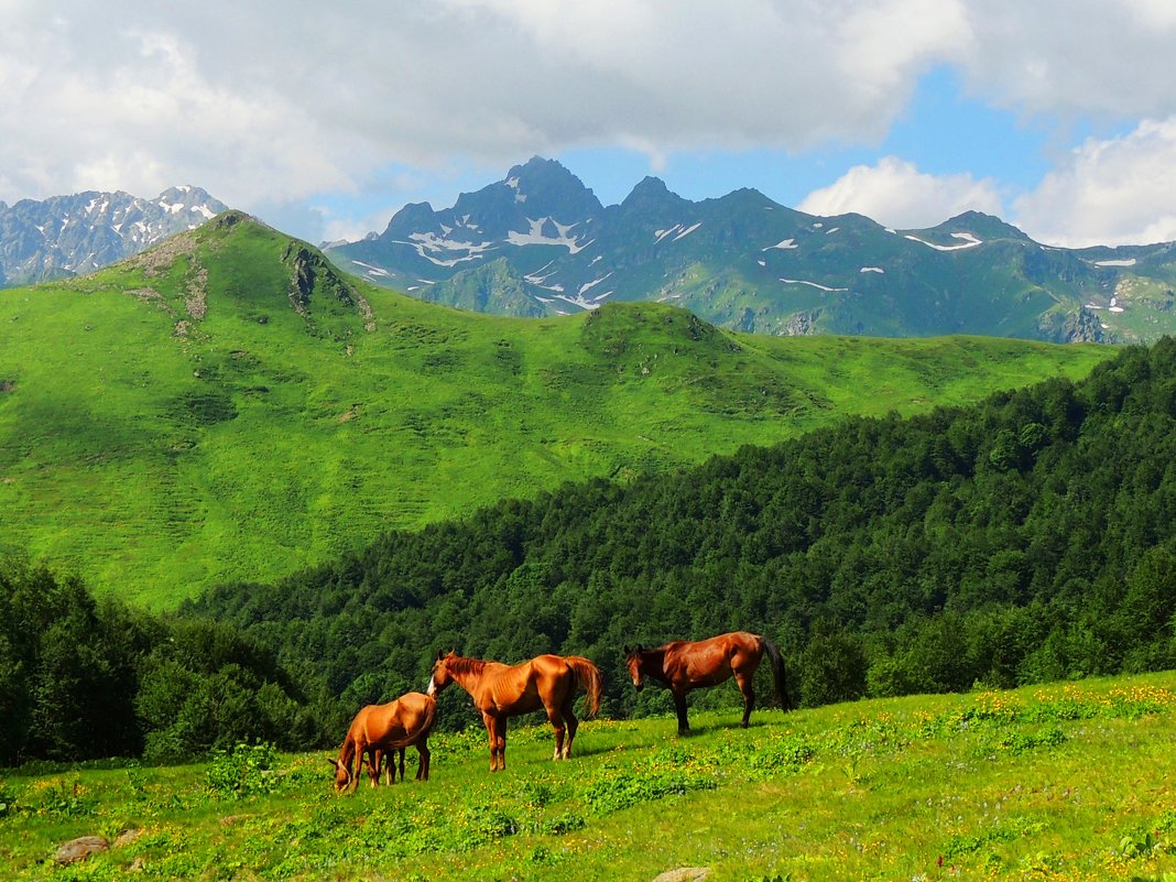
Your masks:
[{"label": "bright white billowing cloud at the right edge above the mountains", "polygon": [[1013,207],[1022,229],[1055,245],[1176,240],[1176,118],[1087,140]]}]

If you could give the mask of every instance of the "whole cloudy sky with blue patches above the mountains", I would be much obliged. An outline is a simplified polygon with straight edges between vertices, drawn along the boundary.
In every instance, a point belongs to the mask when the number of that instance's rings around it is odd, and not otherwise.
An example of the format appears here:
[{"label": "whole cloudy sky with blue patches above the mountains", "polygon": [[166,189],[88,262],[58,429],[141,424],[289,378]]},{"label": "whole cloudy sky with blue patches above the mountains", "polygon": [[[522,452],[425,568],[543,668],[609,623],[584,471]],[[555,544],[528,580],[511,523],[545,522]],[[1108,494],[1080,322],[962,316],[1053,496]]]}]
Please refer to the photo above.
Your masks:
[{"label": "whole cloudy sky with blue patches above the mountains", "polygon": [[896,228],[1176,240],[1176,0],[0,0],[0,200],[182,185],[312,242],[556,159]]}]

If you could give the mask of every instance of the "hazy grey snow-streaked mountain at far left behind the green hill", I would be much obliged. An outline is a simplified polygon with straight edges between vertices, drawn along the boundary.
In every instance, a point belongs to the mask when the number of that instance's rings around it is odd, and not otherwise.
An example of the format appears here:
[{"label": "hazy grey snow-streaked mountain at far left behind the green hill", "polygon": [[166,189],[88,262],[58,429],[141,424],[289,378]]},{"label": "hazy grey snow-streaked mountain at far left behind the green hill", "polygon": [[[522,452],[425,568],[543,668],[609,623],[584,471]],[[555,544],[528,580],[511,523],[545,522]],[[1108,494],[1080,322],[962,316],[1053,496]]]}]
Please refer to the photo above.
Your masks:
[{"label": "hazy grey snow-streaked mountain at far left behind the green hill", "polygon": [[225,209],[199,187],[172,187],[149,200],[87,192],[0,202],[0,286],[93,272]]}]

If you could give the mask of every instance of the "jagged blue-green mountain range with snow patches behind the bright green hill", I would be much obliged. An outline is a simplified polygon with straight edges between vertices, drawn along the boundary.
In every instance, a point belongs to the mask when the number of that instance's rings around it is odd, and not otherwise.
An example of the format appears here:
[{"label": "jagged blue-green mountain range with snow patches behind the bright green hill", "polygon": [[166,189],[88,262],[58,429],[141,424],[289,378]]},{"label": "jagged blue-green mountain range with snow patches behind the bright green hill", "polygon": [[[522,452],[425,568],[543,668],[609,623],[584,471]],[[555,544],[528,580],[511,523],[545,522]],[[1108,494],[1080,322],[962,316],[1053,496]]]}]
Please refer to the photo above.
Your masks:
[{"label": "jagged blue-green mountain range with snow patches behind the bright green hill", "polygon": [[601,206],[534,158],[453,208],[406,206],[339,266],[432,302],[557,315],[675,303],[762,334],[1132,342],[1176,332],[1176,245],[1053,248],[968,212],[929,229],[817,218],[753,189],[684,200],[647,178]]}]

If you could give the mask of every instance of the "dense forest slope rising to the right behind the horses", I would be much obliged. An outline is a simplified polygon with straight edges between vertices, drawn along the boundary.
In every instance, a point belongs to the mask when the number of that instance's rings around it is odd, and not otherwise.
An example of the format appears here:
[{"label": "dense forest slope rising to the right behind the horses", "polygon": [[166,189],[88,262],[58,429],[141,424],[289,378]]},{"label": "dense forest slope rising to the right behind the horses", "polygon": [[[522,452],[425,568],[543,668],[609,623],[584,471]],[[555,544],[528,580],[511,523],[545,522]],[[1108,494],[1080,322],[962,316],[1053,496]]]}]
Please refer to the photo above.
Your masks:
[{"label": "dense forest slope rising to the right behind the horses", "polygon": [[641,713],[662,700],[626,688],[623,644],[737,628],[777,639],[808,706],[1170,668],[1174,429],[1163,340],[1080,383],[502,502],[186,612],[312,666],[348,707],[421,688],[456,647],[587,655],[608,709]]}]

